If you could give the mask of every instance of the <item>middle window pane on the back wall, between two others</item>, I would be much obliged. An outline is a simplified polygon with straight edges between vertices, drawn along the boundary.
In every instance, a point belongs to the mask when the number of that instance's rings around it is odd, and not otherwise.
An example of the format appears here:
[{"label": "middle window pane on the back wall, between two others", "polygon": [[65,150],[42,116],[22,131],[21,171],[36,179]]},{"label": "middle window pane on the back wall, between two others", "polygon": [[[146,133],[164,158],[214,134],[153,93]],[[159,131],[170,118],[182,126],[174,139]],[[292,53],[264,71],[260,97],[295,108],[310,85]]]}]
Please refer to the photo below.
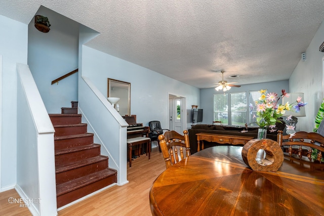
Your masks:
[{"label": "middle window pane on the back wall, between two others", "polygon": [[245,125],[247,123],[247,94],[246,92],[230,93],[231,124]]}]

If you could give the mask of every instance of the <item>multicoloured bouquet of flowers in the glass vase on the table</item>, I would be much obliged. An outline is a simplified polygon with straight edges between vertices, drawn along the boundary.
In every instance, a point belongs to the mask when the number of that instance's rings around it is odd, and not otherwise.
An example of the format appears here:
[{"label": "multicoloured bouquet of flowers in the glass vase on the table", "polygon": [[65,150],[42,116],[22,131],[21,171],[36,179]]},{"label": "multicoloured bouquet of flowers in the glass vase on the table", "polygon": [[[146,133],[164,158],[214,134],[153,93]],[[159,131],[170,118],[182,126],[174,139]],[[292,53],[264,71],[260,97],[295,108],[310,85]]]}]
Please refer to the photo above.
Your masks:
[{"label": "multicoloured bouquet of flowers in the glass vase on the table", "polygon": [[[285,105],[278,104],[278,100],[282,97],[289,98],[290,95],[287,94],[286,90],[281,90],[281,95],[278,97],[276,93],[268,93],[266,94],[267,90],[260,90],[261,97],[258,101],[256,101],[256,109],[257,109],[257,116],[256,117],[257,124],[260,128],[267,129],[268,127],[271,128],[270,132],[275,132],[276,129],[275,123],[281,122],[280,117],[286,113],[286,110],[295,110],[295,112],[300,112],[300,107],[305,106],[307,103],[301,101],[301,97],[296,99],[296,102],[293,104],[289,104],[288,102]],[[295,104],[295,105],[294,105]],[[250,110],[252,112],[253,106],[250,104]],[[286,120],[291,120],[292,116],[288,116]],[[287,129],[291,130],[290,134],[294,134],[295,126],[286,124]]]}]

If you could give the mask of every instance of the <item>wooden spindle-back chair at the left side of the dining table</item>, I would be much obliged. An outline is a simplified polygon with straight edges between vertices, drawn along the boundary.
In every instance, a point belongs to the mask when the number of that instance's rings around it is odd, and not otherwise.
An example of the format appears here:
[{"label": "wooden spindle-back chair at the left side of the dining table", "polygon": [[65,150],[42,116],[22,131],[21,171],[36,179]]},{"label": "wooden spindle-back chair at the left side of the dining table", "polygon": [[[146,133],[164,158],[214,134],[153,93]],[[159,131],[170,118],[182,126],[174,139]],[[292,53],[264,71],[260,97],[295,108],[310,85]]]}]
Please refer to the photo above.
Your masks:
[{"label": "wooden spindle-back chair at the left side of the dining table", "polygon": [[179,162],[179,157],[180,160],[184,158],[184,150],[186,151],[186,157],[190,156],[188,131],[183,131],[183,134],[180,135],[175,131],[170,131],[158,136],[167,168]]}]

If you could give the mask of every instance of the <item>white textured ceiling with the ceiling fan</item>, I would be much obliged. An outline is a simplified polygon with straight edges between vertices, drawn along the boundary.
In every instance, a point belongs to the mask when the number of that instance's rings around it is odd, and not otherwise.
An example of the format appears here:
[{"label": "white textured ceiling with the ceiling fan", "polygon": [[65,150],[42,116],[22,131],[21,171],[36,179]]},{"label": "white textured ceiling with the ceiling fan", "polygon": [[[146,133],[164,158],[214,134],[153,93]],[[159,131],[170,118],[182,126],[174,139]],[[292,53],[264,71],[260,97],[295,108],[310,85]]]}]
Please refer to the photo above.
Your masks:
[{"label": "white textured ceiling with the ceiling fan", "polygon": [[[0,0],[28,24],[41,5],[101,34],[87,46],[198,88],[288,79],[324,20],[323,0]],[[319,46],[319,45],[318,45]],[[307,53],[306,53],[307,59]],[[307,61],[307,60],[306,60]],[[237,78],[228,78],[237,74]]]}]

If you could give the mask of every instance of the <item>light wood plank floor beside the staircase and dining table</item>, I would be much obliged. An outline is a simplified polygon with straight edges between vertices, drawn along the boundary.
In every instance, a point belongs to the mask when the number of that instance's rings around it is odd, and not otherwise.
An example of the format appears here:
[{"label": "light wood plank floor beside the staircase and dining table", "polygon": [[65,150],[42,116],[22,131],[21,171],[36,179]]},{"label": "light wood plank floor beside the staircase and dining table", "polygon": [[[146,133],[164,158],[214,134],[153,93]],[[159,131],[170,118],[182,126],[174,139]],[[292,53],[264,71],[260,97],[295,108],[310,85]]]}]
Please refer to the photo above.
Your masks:
[{"label": "light wood plank floor beside the staircase and dining table", "polygon": [[[158,148],[153,148],[151,159],[141,155],[128,166],[128,181],[124,186],[113,186],[92,197],[58,212],[63,215],[151,215],[149,190],[154,180],[166,169]],[[27,208],[10,204],[8,198],[19,198],[13,190],[0,193],[0,215],[31,215]]]}]

